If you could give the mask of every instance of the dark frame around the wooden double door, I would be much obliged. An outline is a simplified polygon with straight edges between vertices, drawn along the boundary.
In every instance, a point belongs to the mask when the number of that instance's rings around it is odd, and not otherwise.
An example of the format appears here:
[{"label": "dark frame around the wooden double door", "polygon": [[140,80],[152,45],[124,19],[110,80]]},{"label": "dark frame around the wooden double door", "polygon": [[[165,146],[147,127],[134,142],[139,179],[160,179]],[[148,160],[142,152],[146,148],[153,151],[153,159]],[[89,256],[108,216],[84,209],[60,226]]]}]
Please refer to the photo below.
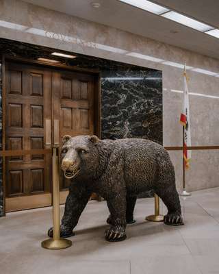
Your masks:
[{"label": "dark frame around the wooden double door", "polygon": [[[3,216],[5,216],[5,189],[6,189],[6,167],[5,167],[5,101],[6,101],[6,87],[5,87],[5,62],[14,62],[18,64],[29,64],[35,66],[46,66],[47,68],[59,71],[76,71],[81,73],[89,73],[94,75],[94,134],[101,138],[101,71],[99,69],[83,69],[77,66],[67,66],[65,64],[50,64],[49,62],[42,62],[38,60],[30,60],[25,58],[12,57],[10,55],[2,55],[2,180],[3,180]],[[62,193],[60,195],[62,199]]]}]

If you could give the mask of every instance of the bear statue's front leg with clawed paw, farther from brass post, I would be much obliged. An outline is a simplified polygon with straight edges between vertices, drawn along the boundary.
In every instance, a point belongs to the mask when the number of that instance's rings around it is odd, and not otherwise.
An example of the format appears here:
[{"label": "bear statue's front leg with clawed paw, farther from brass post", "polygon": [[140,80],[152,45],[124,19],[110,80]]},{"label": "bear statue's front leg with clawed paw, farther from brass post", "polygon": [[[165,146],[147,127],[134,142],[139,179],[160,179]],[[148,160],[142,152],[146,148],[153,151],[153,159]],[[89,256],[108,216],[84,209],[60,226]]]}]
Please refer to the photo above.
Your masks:
[{"label": "bear statue's front leg with clawed paw, farther from brass post", "polygon": [[111,227],[105,231],[105,239],[118,242],[126,239],[126,195],[116,195],[107,199],[107,206],[111,214]]}]

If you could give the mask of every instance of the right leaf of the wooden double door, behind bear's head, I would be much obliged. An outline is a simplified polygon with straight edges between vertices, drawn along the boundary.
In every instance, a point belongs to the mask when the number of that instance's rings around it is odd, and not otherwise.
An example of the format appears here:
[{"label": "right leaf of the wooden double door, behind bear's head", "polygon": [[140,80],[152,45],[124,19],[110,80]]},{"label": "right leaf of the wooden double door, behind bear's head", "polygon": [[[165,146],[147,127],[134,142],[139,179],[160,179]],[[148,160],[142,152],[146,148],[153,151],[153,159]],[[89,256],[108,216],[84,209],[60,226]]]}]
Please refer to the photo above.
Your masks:
[{"label": "right leaf of the wooden double door, behind bear's head", "polygon": [[[60,121],[60,143],[66,134],[94,134],[94,84],[95,77],[86,73],[53,73],[53,116]],[[60,172],[60,190],[65,190],[69,180]]]}]

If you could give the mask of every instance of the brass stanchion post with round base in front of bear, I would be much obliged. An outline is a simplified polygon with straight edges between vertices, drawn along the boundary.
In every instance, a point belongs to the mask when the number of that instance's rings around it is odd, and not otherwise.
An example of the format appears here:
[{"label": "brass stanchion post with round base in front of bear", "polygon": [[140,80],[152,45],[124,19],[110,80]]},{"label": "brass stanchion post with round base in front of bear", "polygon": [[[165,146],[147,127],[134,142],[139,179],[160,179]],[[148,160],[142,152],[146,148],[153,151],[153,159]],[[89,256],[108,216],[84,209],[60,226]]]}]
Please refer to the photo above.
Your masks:
[{"label": "brass stanchion post with round base in front of bear", "polygon": [[65,249],[71,240],[60,238],[60,169],[58,149],[53,147],[53,238],[41,242],[46,249]]}]

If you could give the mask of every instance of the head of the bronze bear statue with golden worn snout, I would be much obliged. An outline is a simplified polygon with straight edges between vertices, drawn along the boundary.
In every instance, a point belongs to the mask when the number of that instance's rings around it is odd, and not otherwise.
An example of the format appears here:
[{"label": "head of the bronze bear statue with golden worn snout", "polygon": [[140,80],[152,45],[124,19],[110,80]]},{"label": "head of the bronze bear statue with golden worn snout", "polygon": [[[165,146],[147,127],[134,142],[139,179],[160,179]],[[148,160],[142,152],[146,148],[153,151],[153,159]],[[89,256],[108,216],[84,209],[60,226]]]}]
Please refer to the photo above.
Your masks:
[{"label": "head of the bronze bear statue with golden worn snout", "polygon": [[67,179],[79,175],[92,177],[99,164],[99,153],[96,145],[99,138],[96,136],[65,135],[62,138],[62,170]]}]

